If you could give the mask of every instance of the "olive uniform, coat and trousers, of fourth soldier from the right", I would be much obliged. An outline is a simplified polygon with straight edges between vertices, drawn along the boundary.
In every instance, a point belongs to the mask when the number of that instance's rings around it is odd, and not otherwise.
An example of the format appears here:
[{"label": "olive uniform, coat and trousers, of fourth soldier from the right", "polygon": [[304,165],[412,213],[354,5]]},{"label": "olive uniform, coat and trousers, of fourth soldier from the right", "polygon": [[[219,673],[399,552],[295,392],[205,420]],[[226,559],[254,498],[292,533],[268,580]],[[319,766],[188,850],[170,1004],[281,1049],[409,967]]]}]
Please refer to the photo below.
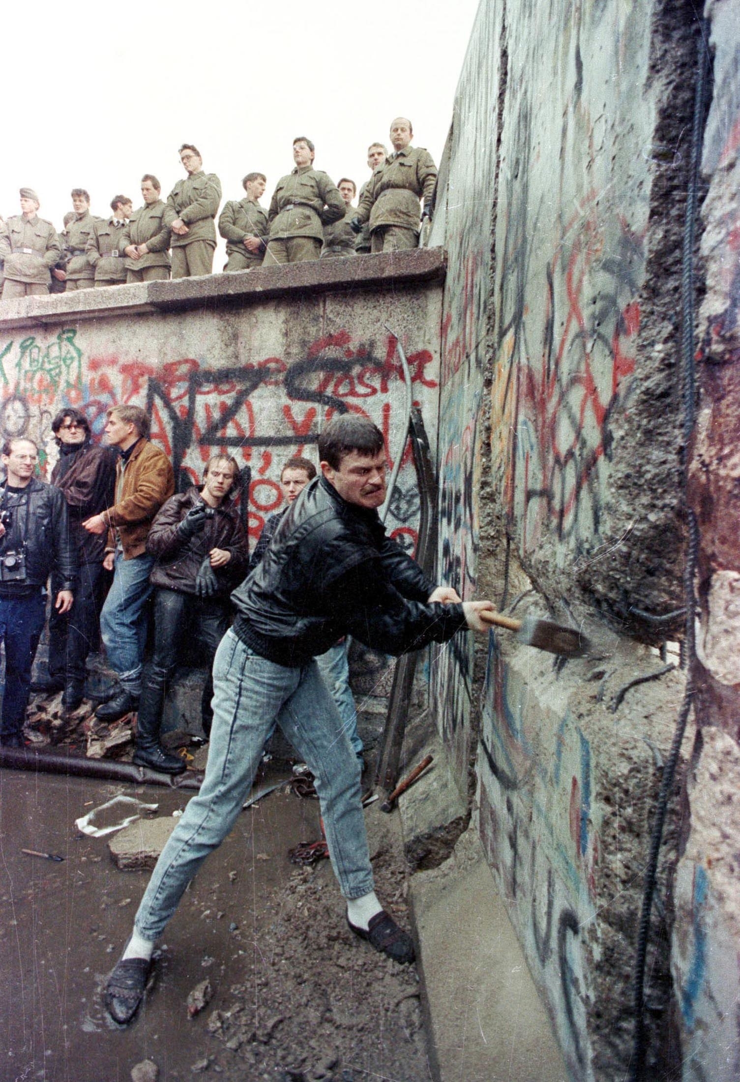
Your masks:
[{"label": "olive uniform, coat and trousers, of fourth soldier from the right", "polygon": [[281,176],[269,203],[269,243],[265,266],[317,260],[323,226],[344,217],[344,199],[334,182],[313,166]]}]

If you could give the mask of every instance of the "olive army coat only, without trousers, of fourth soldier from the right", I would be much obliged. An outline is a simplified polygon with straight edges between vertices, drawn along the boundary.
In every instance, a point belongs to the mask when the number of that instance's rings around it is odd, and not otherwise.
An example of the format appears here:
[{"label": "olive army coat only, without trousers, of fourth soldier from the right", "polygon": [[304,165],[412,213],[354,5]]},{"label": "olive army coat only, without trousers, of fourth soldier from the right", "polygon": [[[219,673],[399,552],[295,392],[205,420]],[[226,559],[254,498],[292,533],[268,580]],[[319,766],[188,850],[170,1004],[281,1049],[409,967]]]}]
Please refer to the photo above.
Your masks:
[{"label": "olive army coat only, without trousers, of fourth soldier from the right", "polygon": [[344,217],[344,199],[334,182],[320,169],[304,166],[281,176],[269,203],[269,239],[315,237],[323,240],[323,226]]}]

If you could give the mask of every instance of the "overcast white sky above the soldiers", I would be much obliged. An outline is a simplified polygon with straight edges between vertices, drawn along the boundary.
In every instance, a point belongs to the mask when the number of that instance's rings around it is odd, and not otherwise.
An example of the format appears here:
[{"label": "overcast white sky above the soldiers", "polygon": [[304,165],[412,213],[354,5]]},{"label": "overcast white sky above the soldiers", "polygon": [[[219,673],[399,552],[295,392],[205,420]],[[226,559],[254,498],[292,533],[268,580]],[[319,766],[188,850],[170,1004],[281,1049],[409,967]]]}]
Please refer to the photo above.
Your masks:
[{"label": "overcast white sky above the soldiers", "polygon": [[[316,168],[357,186],[366,150],[388,145],[391,120],[413,122],[413,143],[437,164],[478,0],[40,0],[3,12],[3,166],[0,214],[19,213],[36,188],[57,229],[72,187],[107,215],[117,193],[141,204],[142,173],[167,194],[195,143],[223,198],[241,177],[267,175],[269,197],[307,135]],[[16,42],[16,45],[12,44]],[[24,42],[23,45],[17,43]],[[222,203],[223,207],[223,203]],[[217,253],[214,269],[221,269]]]}]

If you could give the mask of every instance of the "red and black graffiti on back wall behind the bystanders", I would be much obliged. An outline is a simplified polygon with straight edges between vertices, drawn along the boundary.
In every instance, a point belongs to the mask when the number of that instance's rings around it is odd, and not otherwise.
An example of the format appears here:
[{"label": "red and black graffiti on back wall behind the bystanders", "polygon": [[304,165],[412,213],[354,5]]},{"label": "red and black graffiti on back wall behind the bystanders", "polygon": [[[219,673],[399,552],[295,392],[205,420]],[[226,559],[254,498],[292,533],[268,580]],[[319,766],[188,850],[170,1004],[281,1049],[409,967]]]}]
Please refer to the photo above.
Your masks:
[{"label": "red and black graffiti on back wall behind the bystanders", "polygon": [[[179,489],[200,480],[211,454],[236,457],[247,493],[242,514],[256,538],[265,517],[281,505],[282,463],[310,453],[320,425],[335,413],[369,417],[394,453],[402,370],[389,335],[378,344],[355,342],[341,330],[307,342],[296,358],[273,356],[243,365],[194,358],[150,364],[83,348],[83,341],[65,329],[49,341],[29,337],[0,348],[0,435],[37,439],[42,469],[55,459],[51,421],[58,409],[84,409],[100,437],[106,411],[133,403],[147,410],[151,439],[171,458]],[[419,400],[437,386],[433,356],[422,349],[408,360]],[[409,447],[402,467],[389,523],[399,542],[413,549],[419,493]]]}]

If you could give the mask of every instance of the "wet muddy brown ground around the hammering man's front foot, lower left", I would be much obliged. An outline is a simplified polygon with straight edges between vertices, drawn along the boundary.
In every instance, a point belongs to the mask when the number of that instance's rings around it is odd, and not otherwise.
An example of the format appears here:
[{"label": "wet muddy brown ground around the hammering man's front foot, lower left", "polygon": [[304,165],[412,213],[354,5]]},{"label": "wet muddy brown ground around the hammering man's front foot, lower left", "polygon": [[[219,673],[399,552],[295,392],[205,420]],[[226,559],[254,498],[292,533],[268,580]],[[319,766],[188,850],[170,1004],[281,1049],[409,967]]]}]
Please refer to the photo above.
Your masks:
[{"label": "wet muddy brown ground around the hammering man's front foot, lower left", "polygon": [[[108,839],[81,835],[75,820],[120,792],[157,803],[158,816],[188,799],[169,789],[0,770],[0,1079],[129,1082],[146,1057],[160,1080],[200,1077],[191,1067],[208,1057],[207,1077],[249,1078],[204,1019],[232,986],[246,999],[256,995],[264,926],[296,872],[288,849],[318,836],[318,804],[278,790],[240,816],[168,927],[154,994],[136,1024],[119,1029],[103,1011],[101,987],[149,873],[119,871]],[[187,993],[207,977],[213,1000],[190,1019]]]}]

